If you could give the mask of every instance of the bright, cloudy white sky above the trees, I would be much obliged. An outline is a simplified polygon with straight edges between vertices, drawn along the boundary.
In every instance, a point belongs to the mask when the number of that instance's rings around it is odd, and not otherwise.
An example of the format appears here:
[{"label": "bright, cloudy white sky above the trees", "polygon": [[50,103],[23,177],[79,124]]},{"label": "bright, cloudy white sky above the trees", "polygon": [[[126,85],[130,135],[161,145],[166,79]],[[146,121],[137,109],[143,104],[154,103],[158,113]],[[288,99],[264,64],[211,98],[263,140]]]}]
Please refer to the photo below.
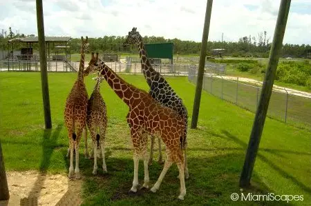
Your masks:
[{"label": "bright, cloudy white sky above the trees", "polygon": [[[281,0],[214,0],[209,41],[238,41],[267,31]],[[37,36],[35,0],[0,0],[0,31]],[[144,36],[201,41],[207,0],[43,0],[46,36]],[[311,0],[292,0],[283,43],[311,45]]]}]

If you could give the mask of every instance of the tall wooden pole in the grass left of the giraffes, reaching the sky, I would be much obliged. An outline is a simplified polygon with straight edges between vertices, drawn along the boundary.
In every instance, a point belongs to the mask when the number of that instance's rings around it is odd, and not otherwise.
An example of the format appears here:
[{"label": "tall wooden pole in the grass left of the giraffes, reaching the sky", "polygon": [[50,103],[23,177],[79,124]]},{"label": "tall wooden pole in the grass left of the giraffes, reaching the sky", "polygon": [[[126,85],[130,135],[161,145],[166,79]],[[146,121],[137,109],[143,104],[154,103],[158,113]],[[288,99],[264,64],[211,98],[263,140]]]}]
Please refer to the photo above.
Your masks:
[{"label": "tall wooden pole in the grass left of the giraffes, reaching the sky", "polygon": [[46,70],[46,38],[44,37],[44,15],[42,0],[36,0],[36,6],[41,70],[41,88],[44,103],[44,121],[46,129],[50,129],[52,128],[52,120],[50,117],[50,95],[48,94],[48,72]]}]

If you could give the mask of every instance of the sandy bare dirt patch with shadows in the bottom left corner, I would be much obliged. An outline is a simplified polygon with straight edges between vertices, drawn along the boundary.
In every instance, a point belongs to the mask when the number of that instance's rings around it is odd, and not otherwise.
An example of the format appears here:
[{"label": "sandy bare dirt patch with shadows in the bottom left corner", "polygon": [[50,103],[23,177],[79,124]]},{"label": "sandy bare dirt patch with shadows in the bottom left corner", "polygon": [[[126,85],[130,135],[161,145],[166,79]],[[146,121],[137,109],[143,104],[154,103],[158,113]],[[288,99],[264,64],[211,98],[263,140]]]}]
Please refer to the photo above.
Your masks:
[{"label": "sandy bare dirt patch with shadows in the bottom left corner", "polygon": [[80,205],[82,181],[36,171],[6,172],[10,200],[2,205]]}]

